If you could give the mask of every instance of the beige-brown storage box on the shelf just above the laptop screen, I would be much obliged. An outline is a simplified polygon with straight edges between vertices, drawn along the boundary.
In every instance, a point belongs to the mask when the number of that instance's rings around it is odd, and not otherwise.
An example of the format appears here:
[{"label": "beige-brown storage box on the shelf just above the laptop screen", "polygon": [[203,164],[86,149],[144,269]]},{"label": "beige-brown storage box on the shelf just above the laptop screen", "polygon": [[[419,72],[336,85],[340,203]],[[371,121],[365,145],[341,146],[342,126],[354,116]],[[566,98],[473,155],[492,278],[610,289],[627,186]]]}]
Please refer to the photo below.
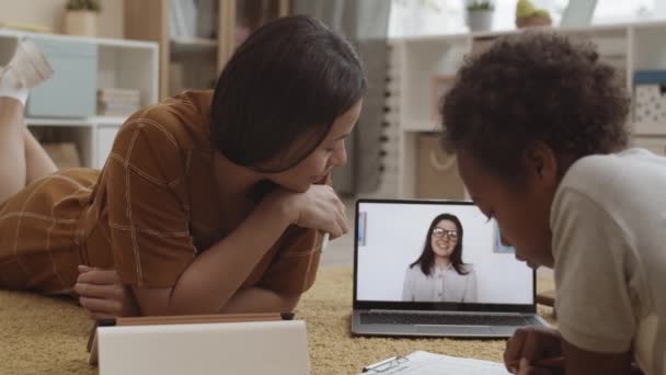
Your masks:
[{"label": "beige-brown storage box on the shelf just above the laptop screen", "polygon": [[439,136],[418,136],[418,174],[416,192],[420,198],[463,200],[464,185],[458,174],[456,157],[439,147]]}]

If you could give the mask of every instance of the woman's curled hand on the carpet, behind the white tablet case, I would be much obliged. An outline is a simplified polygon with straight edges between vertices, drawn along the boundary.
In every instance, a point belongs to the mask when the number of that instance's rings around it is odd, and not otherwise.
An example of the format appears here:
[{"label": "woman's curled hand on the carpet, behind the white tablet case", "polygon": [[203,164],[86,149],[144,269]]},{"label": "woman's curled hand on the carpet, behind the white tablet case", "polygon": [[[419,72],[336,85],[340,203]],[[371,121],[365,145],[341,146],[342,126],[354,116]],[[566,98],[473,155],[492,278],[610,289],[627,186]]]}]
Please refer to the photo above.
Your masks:
[{"label": "woman's curled hand on the carpet, behind the white tablet case", "polygon": [[123,285],[115,270],[79,265],[79,279],[74,292],[91,319],[115,319],[140,315],[131,292]]}]

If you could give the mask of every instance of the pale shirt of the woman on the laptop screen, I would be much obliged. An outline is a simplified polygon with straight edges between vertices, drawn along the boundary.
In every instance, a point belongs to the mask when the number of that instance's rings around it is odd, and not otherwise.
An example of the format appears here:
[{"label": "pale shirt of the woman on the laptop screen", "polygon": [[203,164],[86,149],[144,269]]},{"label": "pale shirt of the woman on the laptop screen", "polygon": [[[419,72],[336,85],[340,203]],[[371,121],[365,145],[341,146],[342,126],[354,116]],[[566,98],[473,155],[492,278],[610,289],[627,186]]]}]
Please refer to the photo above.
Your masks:
[{"label": "pale shirt of the woman on the laptop screen", "polygon": [[464,264],[468,273],[459,274],[452,265],[441,270],[433,268],[429,275],[418,264],[409,266],[402,287],[402,300],[410,302],[476,302],[476,273],[471,264]]}]

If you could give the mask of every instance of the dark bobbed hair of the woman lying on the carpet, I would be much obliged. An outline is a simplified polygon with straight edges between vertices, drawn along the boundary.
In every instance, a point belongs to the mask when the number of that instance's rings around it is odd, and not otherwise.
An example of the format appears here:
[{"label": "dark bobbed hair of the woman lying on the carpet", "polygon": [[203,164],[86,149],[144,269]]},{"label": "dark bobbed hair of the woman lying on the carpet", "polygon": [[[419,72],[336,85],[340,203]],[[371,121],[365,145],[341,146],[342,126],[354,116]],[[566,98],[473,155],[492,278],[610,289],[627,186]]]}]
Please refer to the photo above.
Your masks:
[{"label": "dark bobbed hair of the woman lying on the carpet", "polygon": [[[287,170],[365,90],[360,59],[342,36],[306,15],[278,19],[250,35],[225,66],[213,96],[213,145],[237,164]],[[297,139],[296,152],[280,154]]]}]

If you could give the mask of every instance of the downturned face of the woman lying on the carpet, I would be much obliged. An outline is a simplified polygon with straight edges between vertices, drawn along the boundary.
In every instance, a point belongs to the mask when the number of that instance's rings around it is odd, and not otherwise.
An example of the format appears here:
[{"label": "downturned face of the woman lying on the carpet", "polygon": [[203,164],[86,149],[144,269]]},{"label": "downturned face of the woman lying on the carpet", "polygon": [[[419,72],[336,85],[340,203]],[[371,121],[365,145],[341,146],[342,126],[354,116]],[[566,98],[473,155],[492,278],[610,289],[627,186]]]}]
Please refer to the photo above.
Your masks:
[{"label": "downturned face of the woman lying on the carpet", "polygon": [[[347,162],[345,138],[352,134],[363,101],[358,101],[337,117],[326,138],[305,160],[284,172],[267,174],[266,178],[295,192],[306,192],[311,184],[322,182],[333,167],[342,167]],[[303,138],[302,141],[297,141],[290,150],[287,150],[286,155],[308,147],[305,143],[309,140],[309,138],[307,140]]]}]

